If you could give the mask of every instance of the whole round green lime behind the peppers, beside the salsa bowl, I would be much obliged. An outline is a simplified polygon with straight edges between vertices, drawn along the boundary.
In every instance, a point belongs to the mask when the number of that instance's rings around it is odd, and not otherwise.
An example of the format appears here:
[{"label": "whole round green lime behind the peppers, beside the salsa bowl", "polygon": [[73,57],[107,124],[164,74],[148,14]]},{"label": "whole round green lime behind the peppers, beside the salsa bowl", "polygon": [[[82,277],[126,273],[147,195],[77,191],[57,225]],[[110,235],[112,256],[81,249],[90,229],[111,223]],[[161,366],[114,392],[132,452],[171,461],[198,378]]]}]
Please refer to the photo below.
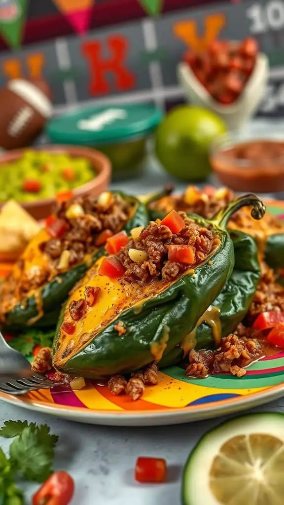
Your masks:
[{"label": "whole round green lime behind the peppers, beside the salsa bowl", "polygon": [[156,155],[178,179],[204,180],[210,173],[209,147],[226,132],[223,121],[208,109],[182,105],[163,119],[156,131]]}]

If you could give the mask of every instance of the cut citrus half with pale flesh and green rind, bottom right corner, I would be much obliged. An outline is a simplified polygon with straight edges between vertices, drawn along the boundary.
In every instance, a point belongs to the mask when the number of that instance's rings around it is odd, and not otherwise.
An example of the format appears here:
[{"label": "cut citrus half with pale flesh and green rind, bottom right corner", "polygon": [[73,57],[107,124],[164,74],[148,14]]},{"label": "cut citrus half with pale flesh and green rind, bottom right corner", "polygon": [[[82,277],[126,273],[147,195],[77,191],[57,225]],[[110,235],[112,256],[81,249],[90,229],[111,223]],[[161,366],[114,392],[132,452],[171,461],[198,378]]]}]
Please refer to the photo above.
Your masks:
[{"label": "cut citrus half with pale flesh and green rind, bottom right corner", "polygon": [[283,505],[284,414],[252,414],[207,433],[188,458],[184,505]]}]

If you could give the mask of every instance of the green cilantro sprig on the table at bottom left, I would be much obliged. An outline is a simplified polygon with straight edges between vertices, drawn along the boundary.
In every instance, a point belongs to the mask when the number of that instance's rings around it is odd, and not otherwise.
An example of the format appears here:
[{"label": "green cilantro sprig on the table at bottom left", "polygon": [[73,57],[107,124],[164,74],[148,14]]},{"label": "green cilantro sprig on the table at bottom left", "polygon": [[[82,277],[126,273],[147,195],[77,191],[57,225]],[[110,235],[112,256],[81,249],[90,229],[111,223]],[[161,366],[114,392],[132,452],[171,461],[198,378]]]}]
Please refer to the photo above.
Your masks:
[{"label": "green cilantro sprig on the table at bottom left", "polygon": [[9,457],[0,448],[0,503],[23,505],[22,491],[16,479],[44,482],[52,473],[57,435],[46,424],[37,426],[27,421],[6,421],[0,436],[13,438]]}]

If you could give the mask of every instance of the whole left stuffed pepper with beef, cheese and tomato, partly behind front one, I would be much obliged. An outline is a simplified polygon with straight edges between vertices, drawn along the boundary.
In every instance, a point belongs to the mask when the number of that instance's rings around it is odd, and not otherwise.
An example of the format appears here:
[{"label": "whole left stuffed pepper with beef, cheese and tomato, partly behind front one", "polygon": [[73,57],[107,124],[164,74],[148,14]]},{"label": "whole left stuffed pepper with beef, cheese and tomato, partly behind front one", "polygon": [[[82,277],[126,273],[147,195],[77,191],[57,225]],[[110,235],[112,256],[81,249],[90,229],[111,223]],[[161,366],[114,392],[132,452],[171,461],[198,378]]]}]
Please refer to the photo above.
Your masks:
[{"label": "whole left stuffed pepper with beef, cheese and tomato, partly behind front one", "polygon": [[63,201],[28,244],[0,292],[0,322],[9,329],[56,325],[61,304],[88,268],[120,244],[133,227],[148,223],[148,211],[136,198],[106,191]]}]

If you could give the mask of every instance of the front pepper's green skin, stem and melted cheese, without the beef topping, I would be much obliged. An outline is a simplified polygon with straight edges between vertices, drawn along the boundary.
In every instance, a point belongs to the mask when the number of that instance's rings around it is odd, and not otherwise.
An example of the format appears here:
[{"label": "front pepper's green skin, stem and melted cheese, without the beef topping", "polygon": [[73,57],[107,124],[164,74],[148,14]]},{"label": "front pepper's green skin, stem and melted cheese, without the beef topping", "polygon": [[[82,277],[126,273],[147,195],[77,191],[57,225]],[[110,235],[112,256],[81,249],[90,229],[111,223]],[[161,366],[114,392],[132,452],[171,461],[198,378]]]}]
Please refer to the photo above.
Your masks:
[{"label": "front pepper's green skin, stem and melted cheese, without the beef topping", "polygon": [[[176,281],[152,280],[142,288],[136,283],[124,284],[98,275],[102,259],[98,260],[62,310],[53,346],[55,368],[99,379],[160,362],[165,351],[170,352],[193,331],[230,277],[234,251],[225,227],[244,205],[254,206],[255,219],[263,217],[265,206],[251,194],[233,201],[211,221],[190,216],[202,227],[210,226],[221,244]],[[69,308],[82,299],[84,287],[99,288],[100,297],[68,335]],[[119,326],[125,331],[120,332]]]}]

